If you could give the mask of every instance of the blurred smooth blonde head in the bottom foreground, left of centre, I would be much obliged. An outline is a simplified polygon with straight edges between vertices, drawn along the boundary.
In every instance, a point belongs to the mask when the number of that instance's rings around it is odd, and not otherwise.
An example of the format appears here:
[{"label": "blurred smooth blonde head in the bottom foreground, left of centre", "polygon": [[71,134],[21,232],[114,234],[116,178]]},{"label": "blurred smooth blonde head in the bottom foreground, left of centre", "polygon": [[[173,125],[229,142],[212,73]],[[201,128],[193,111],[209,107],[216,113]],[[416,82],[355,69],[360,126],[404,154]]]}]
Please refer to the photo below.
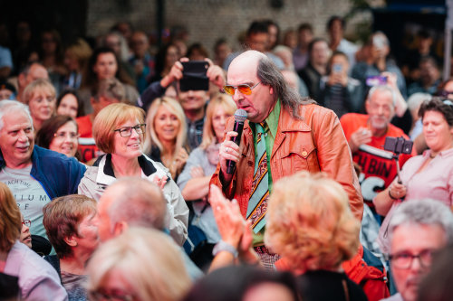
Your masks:
[{"label": "blurred smooth blonde head in the bottom foreground, left of centre", "polygon": [[178,247],[158,230],[130,228],[88,264],[90,300],[178,301],[191,283]]}]

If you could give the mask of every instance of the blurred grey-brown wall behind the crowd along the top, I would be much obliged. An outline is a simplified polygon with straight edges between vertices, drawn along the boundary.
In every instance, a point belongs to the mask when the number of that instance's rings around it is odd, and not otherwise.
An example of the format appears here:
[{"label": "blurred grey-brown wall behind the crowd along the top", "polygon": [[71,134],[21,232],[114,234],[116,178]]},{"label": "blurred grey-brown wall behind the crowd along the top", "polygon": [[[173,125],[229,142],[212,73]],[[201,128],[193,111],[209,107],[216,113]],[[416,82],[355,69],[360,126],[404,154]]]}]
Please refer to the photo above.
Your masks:
[{"label": "blurred grey-brown wall behind the crowd along the top", "polygon": [[[143,0],[91,0],[88,2],[87,35],[96,36],[118,21],[130,21],[136,29],[156,33],[156,2]],[[313,24],[315,35],[325,36],[325,23],[333,14],[344,15],[350,0],[281,0],[282,8],[273,8],[272,0],[167,0],[166,27],[185,25],[188,42],[202,42],[212,52],[219,37],[238,48],[237,36],[251,21],[271,18],[282,30],[298,24]]]}]

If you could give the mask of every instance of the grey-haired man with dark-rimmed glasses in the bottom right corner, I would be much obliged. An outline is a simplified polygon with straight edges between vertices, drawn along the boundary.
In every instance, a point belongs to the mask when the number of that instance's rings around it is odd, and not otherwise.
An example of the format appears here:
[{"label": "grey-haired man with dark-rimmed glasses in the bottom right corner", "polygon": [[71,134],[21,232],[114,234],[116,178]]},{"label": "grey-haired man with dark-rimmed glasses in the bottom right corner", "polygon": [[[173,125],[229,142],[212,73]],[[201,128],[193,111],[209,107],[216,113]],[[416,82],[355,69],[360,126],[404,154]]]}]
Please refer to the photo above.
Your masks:
[{"label": "grey-haired man with dark-rimmed glasses in the bottom right corner", "polygon": [[384,300],[415,301],[433,253],[452,242],[453,215],[439,201],[404,202],[394,212],[388,233],[390,268],[399,293]]}]

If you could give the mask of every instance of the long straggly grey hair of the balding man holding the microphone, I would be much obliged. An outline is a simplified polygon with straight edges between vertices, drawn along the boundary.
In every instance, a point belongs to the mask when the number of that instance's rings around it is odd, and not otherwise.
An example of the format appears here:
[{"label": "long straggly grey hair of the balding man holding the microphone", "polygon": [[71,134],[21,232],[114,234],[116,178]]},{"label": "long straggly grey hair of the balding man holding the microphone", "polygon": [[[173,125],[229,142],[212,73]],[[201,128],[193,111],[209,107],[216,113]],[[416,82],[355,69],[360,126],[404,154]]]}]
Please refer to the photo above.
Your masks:
[{"label": "long straggly grey hair of the balding man holding the microphone", "polygon": [[282,105],[291,108],[294,118],[302,118],[299,115],[299,108],[301,105],[316,103],[313,99],[304,98],[294,89],[290,88],[284,80],[282,72],[280,72],[275,66],[275,63],[265,55],[258,61],[256,76],[263,84],[274,89],[275,101],[280,99]]}]

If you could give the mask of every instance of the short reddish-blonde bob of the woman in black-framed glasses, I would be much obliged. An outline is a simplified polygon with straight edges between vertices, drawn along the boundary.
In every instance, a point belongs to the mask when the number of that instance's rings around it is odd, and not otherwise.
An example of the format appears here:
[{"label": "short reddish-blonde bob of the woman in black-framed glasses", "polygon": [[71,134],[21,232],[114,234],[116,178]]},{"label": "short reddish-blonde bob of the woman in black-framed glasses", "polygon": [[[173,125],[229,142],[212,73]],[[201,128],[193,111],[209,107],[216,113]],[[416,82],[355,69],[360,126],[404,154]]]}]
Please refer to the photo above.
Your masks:
[{"label": "short reddish-blonde bob of the woman in black-framed glasses", "polygon": [[[140,124],[144,123],[145,111],[125,103],[112,103],[102,108],[92,124],[92,136],[96,141],[96,146],[106,154],[113,153],[115,151],[114,130],[126,121],[135,118],[139,120]],[[143,138],[146,136],[145,133],[141,135]]]}]

